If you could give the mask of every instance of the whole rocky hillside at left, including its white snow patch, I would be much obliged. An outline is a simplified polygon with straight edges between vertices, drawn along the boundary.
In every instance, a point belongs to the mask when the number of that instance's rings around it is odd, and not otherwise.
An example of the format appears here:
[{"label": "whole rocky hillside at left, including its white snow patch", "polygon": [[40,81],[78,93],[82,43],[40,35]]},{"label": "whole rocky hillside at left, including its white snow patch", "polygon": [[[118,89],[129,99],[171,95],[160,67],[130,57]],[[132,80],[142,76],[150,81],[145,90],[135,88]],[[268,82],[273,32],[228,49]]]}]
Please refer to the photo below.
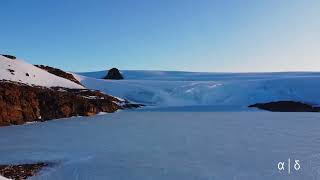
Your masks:
[{"label": "whole rocky hillside at left, including its white snow patch", "polygon": [[60,69],[48,66],[40,69],[4,56],[0,56],[0,66],[0,126],[91,116],[140,106],[86,89]]}]

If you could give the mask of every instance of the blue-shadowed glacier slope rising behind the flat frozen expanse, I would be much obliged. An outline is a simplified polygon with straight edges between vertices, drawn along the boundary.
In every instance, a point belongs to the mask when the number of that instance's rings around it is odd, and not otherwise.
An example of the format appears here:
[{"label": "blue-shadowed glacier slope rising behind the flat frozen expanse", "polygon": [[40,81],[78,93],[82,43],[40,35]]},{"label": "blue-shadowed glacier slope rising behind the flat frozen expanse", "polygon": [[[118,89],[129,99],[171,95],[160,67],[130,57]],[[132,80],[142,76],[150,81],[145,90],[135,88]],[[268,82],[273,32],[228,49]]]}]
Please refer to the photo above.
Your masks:
[{"label": "blue-shadowed glacier slope rising behind the flat frozen expanse", "polygon": [[[320,104],[320,73],[196,73],[121,71],[125,80],[99,79],[106,71],[79,73],[89,88],[154,106],[238,106],[295,100]],[[103,75],[104,74],[104,75]]]}]

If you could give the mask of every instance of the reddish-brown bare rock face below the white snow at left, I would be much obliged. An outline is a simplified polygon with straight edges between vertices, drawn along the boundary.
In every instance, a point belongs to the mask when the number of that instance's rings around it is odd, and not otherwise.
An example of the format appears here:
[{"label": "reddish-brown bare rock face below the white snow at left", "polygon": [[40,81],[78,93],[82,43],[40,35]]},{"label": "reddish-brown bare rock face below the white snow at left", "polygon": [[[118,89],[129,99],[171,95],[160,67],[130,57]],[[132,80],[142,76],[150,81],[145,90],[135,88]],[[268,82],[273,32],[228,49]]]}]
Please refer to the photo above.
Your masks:
[{"label": "reddish-brown bare rock face below the white snow at left", "polygon": [[136,107],[100,91],[44,88],[0,81],[0,126]]}]

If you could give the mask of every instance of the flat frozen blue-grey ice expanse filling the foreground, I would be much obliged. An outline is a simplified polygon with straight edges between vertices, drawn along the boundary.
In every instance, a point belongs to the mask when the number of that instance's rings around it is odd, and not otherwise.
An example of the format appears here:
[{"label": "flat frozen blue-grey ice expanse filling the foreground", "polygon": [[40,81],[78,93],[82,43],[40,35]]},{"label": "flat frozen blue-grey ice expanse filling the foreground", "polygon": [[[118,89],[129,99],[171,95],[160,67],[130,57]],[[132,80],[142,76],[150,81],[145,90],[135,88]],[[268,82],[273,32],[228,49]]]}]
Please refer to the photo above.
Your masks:
[{"label": "flat frozen blue-grey ice expanse filling the foreground", "polygon": [[0,164],[56,163],[31,179],[317,180],[319,127],[318,113],[122,111],[3,127]]}]

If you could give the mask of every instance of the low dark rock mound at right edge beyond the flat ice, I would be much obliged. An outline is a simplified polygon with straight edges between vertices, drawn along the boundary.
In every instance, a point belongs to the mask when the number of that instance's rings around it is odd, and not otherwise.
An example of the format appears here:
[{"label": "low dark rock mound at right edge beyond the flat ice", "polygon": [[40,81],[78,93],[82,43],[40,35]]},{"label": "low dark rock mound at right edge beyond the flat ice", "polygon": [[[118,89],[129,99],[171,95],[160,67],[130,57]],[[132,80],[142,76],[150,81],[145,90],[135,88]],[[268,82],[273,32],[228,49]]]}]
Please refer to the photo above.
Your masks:
[{"label": "low dark rock mound at right edge beyond the flat ice", "polygon": [[310,104],[296,101],[257,103],[250,105],[249,107],[255,107],[272,112],[320,112],[320,107],[314,107]]}]

